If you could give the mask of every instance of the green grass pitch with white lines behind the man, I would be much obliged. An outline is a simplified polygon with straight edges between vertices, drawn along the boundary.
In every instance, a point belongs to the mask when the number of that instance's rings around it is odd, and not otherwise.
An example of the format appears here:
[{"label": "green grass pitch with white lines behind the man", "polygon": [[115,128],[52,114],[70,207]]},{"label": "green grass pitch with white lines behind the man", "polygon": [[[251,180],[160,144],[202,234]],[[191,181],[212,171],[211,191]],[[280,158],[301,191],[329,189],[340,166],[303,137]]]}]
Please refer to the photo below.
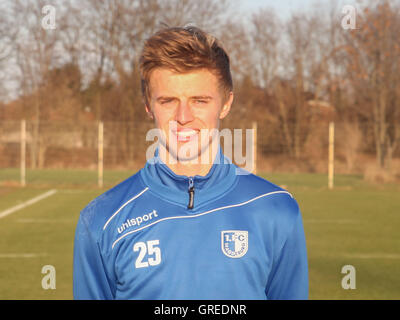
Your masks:
[{"label": "green grass pitch with white lines behind the man", "polygon": [[[0,299],[72,299],[72,252],[80,210],[132,172],[0,169],[0,212],[50,189],[57,193],[0,218]],[[328,190],[318,174],[260,174],[293,193],[303,214],[310,299],[400,299],[400,185],[373,185],[336,176]],[[44,265],[56,269],[56,289],[42,288]],[[356,269],[356,289],[341,286],[341,269]]]}]

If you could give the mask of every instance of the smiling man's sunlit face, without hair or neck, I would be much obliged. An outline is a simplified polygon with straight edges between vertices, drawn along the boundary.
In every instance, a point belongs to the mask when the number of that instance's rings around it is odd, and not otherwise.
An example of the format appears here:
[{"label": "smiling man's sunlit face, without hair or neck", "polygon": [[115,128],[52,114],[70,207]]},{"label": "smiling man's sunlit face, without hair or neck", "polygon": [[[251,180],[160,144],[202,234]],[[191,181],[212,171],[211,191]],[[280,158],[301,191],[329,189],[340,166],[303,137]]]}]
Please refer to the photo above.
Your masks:
[{"label": "smiling man's sunlit face, without hair or neck", "polygon": [[[207,69],[176,73],[157,68],[151,73],[149,88],[146,111],[160,129],[167,151],[181,160],[200,156],[213,139],[203,133],[219,128],[219,120],[230,110],[233,93],[224,99],[218,78]],[[190,156],[182,152],[191,146],[197,148]]]}]

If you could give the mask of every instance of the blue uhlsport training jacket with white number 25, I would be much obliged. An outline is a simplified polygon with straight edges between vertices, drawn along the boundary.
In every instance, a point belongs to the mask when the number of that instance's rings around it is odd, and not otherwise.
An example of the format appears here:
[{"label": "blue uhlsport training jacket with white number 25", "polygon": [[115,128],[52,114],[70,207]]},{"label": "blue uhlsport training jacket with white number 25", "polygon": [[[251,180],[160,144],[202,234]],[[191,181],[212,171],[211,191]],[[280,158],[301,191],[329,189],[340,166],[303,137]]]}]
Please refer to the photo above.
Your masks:
[{"label": "blue uhlsport training jacket with white number 25", "polygon": [[[239,174],[238,174],[239,173]],[[240,174],[241,173],[241,174]],[[206,176],[158,156],[80,214],[75,299],[308,299],[293,196],[225,157]]]}]

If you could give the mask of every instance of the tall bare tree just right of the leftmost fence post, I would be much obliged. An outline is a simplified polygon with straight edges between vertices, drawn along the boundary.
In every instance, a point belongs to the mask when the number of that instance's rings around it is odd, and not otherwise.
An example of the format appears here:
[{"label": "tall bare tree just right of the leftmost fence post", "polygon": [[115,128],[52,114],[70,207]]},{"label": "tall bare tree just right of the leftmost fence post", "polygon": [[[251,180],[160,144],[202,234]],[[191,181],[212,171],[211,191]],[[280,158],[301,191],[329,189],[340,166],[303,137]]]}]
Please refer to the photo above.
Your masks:
[{"label": "tall bare tree just right of the leftmost fence post", "polygon": [[36,168],[39,161],[39,128],[42,118],[43,101],[46,92],[41,86],[52,66],[57,65],[59,52],[56,44],[58,33],[42,27],[43,0],[20,1],[12,3],[14,23],[21,26],[15,38],[15,59],[19,76],[19,93],[25,96],[24,102],[32,108],[26,108],[28,119],[33,120],[31,165]]}]

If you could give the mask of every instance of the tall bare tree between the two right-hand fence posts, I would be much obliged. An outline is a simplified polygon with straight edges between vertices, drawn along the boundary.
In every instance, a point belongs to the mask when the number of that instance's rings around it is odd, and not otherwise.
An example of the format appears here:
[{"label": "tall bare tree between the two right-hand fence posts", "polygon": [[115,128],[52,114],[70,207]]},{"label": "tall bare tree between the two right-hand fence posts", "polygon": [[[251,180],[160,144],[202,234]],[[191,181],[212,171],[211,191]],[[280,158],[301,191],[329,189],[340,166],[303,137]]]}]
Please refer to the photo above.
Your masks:
[{"label": "tall bare tree between the two right-hand fence posts", "polygon": [[313,42],[315,27],[314,17],[304,14],[293,15],[287,21],[287,38],[279,50],[284,72],[271,83],[283,144],[295,159],[301,156],[310,129],[311,110],[307,101],[314,96],[313,70],[319,64]]}]

